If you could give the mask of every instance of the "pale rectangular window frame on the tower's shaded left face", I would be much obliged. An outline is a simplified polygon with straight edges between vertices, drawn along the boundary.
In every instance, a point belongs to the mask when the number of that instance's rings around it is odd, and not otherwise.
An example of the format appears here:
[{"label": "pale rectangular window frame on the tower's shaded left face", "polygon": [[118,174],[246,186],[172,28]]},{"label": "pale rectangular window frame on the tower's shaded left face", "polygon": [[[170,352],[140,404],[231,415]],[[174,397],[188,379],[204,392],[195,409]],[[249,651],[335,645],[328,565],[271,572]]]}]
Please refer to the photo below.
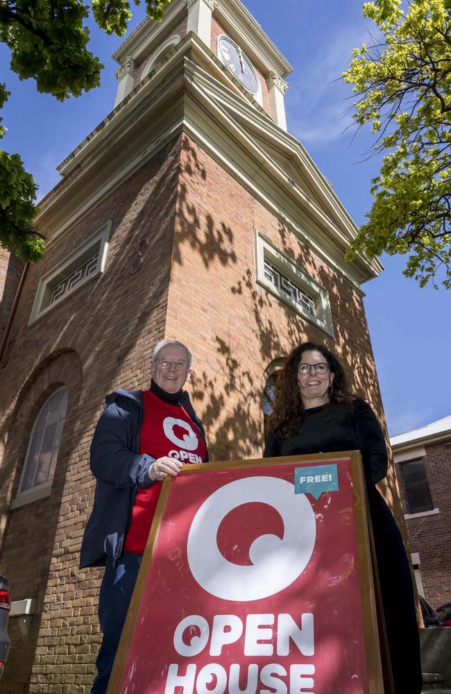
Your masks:
[{"label": "pale rectangular window frame on the tower's shaded left face", "polygon": [[[46,315],[55,306],[58,306],[62,301],[65,301],[68,296],[71,296],[74,291],[78,291],[80,287],[83,287],[87,282],[94,280],[94,278],[103,273],[103,270],[105,269],[106,255],[108,252],[110,232],[111,220],[109,219],[99,230],[97,230],[89,239],[87,239],[87,242],[85,242],[83,246],[77,248],[74,253],[71,253],[71,255],[65,258],[65,260],[62,260],[62,262],[60,262],[56,268],[53,268],[40,279],[39,285],[37,285],[35,301],[33,303],[28,325],[34,323],[41,316]],[[56,301],[49,303],[53,286],[58,284],[58,282],[61,282],[65,276],[69,276],[69,274],[74,271],[78,265],[80,265],[83,259],[88,260],[90,255],[94,255],[96,251],[99,251],[96,271],[80,280],[80,282],[77,282],[74,287],[58,297]]]}]

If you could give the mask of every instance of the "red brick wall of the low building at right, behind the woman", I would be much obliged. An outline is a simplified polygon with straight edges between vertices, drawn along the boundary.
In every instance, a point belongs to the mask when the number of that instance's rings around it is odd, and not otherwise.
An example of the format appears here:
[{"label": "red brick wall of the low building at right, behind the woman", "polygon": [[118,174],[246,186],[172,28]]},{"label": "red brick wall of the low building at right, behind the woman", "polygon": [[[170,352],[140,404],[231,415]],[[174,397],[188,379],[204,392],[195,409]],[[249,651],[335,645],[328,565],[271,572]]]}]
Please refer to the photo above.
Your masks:
[{"label": "red brick wall of the low building at right, behind the woman", "polygon": [[[434,509],[438,514],[407,518],[407,536],[411,552],[420,555],[420,573],[425,598],[433,607],[451,602],[451,434],[447,441],[425,446],[427,482]],[[409,513],[400,467],[396,464],[402,507]]]}]

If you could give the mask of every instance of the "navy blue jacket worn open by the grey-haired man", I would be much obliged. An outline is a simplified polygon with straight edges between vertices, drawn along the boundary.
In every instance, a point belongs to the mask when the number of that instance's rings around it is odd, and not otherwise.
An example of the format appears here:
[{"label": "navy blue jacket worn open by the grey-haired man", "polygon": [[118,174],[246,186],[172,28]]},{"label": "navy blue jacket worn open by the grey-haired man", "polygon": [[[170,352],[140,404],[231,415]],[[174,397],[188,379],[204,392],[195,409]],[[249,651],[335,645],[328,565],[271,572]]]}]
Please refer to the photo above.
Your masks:
[{"label": "navy blue jacket worn open by the grey-haired man", "polygon": [[[148,468],[155,459],[139,453],[144,420],[142,391],[117,390],[105,402],[91,444],[90,465],[97,483],[94,507],[81,543],[80,568],[103,566],[107,557],[114,562],[119,559],[137,489],[153,484]],[[203,426],[186,391],[182,391],[180,405],[205,441]]]}]

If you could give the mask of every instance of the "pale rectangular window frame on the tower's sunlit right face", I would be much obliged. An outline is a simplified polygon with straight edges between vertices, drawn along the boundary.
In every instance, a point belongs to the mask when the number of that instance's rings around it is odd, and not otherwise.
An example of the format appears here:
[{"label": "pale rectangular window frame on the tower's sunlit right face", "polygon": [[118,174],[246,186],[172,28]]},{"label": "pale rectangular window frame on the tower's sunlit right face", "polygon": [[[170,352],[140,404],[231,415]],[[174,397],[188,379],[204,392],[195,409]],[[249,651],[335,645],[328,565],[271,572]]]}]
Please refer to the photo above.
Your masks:
[{"label": "pale rectangular window frame on the tower's sunlit right face", "polygon": [[[314,299],[316,315],[313,316],[303,306],[293,301],[287,294],[280,291],[264,276],[265,261],[271,263],[275,269],[287,276],[293,284]],[[262,232],[255,233],[255,267],[257,269],[257,284],[264,287],[271,294],[276,296],[282,303],[289,306],[310,323],[321,328],[327,335],[334,337],[334,326],[332,323],[332,312],[330,310],[329,293],[327,289],[318,285],[318,282],[307,275],[307,273],[296,263],[294,263],[285,253],[276,248],[269,239],[266,239]]]}]

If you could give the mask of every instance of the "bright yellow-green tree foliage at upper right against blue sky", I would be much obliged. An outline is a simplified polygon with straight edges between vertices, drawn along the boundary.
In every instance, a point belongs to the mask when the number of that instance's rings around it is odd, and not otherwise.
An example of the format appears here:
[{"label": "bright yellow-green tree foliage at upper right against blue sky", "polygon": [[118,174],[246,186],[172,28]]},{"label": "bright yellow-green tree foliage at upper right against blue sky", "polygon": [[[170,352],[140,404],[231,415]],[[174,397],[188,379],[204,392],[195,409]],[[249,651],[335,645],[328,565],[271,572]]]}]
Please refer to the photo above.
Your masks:
[{"label": "bright yellow-green tree foliage at upper right against blue sky", "polygon": [[384,152],[368,221],[348,259],[407,254],[403,273],[423,287],[451,287],[451,0],[364,3],[382,41],[353,51],[346,82],[359,94],[353,117],[371,123]]}]

